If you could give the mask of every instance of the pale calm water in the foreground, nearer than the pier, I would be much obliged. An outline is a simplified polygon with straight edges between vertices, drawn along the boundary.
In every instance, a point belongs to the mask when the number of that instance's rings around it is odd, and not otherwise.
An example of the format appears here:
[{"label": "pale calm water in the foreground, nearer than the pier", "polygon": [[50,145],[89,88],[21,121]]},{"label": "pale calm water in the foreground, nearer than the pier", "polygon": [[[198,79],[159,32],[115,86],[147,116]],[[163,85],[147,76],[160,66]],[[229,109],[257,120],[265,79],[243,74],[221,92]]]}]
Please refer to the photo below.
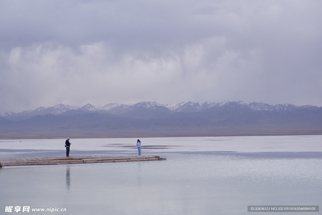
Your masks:
[{"label": "pale calm water in the foreground, nearer than the pier", "polygon": [[247,205],[322,205],[319,157],[158,155],[167,160],[2,168],[0,214],[17,205],[118,215],[249,214]]}]

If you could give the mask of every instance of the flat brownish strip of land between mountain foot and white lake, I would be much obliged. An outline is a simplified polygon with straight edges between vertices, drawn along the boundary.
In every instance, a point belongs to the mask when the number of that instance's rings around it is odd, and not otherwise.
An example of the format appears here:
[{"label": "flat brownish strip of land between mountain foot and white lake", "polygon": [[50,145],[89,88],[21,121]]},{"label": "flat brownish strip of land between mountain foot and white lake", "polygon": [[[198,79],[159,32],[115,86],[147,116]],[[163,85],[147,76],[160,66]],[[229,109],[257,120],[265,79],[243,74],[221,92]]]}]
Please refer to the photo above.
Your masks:
[{"label": "flat brownish strip of land between mountain foot and white lake", "polygon": [[322,135],[322,129],[306,130],[268,130],[268,131],[115,131],[115,132],[89,132],[89,131],[69,131],[69,132],[40,132],[40,133],[0,133],[0,140],[39,140],[39,139],[64,139],[67,136],[72,139],[105,139],[105,138],[161,138],[161,137],[248,137],[248,136],[307,136]]}]

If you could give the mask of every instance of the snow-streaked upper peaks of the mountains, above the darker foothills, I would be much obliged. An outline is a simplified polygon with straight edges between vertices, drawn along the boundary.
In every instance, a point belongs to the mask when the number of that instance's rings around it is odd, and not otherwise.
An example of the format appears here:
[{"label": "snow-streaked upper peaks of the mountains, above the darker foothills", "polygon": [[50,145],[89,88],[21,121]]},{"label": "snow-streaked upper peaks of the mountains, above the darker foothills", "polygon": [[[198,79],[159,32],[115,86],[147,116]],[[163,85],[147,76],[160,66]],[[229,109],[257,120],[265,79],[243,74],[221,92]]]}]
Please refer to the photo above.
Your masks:
[{"label": "snow-streaked upper peaks of the mountains, above the darker foothills", "polygon": [[[118,104],[118,103],[108,103],[104,106],[94,106],[92,104],[86,104],[83,107],[74,107],[64,104],[57,104],[53,107],[39,107],[33,111],[24,111],[20,113],[14,112],[6,112],[1,114],[0,117],[19,121],[22,119],[28,119],[36,115],[45,115],[45,114],[52,114],[52,115],[59,115],[66,111],[71,110],[80,110],[80,111],[73,111],[70,114],[80,114],[80,113],[88,113],[88,112],[105,112],[105,113],[112,113],[121,116],[127,117],[143,117],[144,110],[150,110],[148,115],[150,116],[161,116],[162,114],[171,114],[175,112],[182,112],[182,113],[190,113],[190,112],[204,112],[207,110],[217,110],[218,108],[250,108],[255,112],[285,112],[285,111],[294,111],[294,110],[315,110],[318,107],[312,105],[304,105],[304,106],[297,106],[293,104],[267,104],[261,102],[229,102],[223,101],[221,103],[211,103],[211,102],[204,102],[204,103],[193,103],[193,102],[177,102],[173,104],[161,104],[157,102],[140,102],[136,104]],[[143,111],[143,112],[142,112]],[[152,114],[154,111],[155,114]],[[138,112],[140,112],[138,114]],[[66,112],[67,113],[67,112]],[[162,114],[161,114],[162,113]],[[151,115],[152,114],[152,115]],[[161,115],[160,115],[161,114]]]}]

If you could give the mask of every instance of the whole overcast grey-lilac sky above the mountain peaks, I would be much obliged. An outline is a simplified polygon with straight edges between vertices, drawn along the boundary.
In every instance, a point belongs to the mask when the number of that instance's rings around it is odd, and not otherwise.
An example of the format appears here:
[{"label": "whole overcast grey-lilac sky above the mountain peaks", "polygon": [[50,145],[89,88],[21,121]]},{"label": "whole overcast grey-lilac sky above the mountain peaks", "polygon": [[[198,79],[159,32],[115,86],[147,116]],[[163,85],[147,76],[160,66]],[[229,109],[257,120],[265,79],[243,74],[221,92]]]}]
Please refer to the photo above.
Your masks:
[{"label": "whole overcast grey-lilac sky above the mountain peaks", "polygon": [[0,112],[322,106],[322,1],[0,0]]}]

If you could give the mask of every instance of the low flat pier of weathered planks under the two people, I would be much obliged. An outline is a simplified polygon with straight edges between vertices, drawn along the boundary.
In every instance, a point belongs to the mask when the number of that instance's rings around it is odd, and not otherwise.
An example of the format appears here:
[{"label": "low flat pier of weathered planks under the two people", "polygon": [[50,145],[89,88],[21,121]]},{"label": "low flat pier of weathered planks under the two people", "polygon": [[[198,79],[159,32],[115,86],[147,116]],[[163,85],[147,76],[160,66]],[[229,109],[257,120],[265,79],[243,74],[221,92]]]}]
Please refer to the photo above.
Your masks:
[{"label": "low flat pier of weathered planks under the two people", "polygon": [[116,163],[116,162],[138,162],[138,161],[161,161],[166,158],[159,156],[142,155],[75,155],[70,158],[66,156],[50,156],[37,158],[13,158],[0,159],[0,167],[7,166],[33,166],[33,165],[62,165],[62,164],[86,164],[86,163]]}]

